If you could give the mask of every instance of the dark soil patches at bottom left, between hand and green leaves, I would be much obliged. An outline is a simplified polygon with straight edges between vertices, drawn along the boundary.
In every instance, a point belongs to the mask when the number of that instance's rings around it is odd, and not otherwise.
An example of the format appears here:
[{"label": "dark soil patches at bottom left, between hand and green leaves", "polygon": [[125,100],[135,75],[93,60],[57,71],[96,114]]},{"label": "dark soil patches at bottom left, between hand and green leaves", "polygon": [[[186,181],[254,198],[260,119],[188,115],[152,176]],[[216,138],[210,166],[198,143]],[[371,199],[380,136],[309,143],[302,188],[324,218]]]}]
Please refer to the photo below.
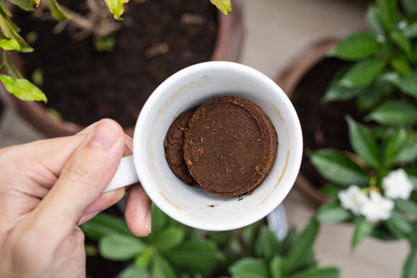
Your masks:
[{"label": "dark soil patches at bottom left, between hand and green leaves", "polygon": [[[104,213],[111,214],[113,216],[123,216],[122,213],[116,208],[116,206],[111,206],[107,208]],[[85,245],[95,245],[97,247],[97,242],[85,238]],[[98,248],[98,247],[97,247]],[[105,278],[105,277],[116,277],[128,263],[123,261],[110,261],[104,259],[102,256],[97,254],[97,256],[87,256],[87,277],[91,278]]]}]

